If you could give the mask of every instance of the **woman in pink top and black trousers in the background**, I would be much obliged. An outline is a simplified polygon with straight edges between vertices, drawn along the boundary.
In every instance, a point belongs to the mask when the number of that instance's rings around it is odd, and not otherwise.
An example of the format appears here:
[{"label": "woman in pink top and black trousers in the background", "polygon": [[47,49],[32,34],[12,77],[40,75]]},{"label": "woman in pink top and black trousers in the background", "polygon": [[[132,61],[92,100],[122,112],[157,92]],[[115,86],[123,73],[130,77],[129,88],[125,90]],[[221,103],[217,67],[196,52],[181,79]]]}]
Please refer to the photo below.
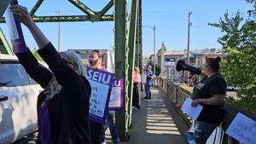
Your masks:
[{"label": "woman in pink top and black trousers in the background", "polygon": [[140,69],[134,67],[133,72],[133,95],[132,95],[132,106],[140,109],[140,83],[142,82],[142,76],[140,74]]}]

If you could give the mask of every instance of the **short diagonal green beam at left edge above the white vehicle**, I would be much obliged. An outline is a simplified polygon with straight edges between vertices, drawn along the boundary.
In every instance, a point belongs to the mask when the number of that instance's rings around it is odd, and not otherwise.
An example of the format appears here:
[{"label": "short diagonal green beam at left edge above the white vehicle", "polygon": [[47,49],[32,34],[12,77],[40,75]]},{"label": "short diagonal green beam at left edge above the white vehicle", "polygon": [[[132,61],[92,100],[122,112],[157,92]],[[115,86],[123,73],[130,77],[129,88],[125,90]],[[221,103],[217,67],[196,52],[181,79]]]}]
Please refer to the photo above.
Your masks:
[{"label": "short diagonal green beam at left edge above the white vehicle", "polygon": [[13,55],[13,52],[9,46],[9,43],[6,37],[4,37],[1,27],[0,27],[0,54]]}]

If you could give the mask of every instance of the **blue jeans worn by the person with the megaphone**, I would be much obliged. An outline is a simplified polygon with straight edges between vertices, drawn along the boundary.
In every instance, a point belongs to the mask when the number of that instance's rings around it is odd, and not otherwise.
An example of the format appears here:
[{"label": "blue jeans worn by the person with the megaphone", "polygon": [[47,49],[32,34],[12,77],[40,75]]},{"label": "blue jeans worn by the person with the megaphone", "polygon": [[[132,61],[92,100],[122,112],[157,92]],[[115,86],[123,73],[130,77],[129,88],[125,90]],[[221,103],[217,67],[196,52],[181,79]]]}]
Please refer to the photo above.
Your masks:
[{"label": "blue jeans worn by the person with the megaphone", "polygon": [[195,121],[195,144],[206,144],[207,139],[212,134],[212,131],[218,126],[217,124],[207,124],[199,121]]}]

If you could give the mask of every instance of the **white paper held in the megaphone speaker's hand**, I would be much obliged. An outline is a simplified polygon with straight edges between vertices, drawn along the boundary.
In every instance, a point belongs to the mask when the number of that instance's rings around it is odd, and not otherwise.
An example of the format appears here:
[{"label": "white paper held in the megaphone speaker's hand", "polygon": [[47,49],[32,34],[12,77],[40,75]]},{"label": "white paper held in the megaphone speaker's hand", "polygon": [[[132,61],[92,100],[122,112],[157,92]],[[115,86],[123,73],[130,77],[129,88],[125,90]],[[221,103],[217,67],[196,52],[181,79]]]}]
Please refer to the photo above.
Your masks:
[{"label": "white paper held in the megaphone speaker's hand", "polygon": [[187,113],[189,117],[196,119],[203,107],[201,105],[197,105],[197,107],[191,107],[192,101],[193,100],[191,98],[187,98],[183,103],[182,111]]}]

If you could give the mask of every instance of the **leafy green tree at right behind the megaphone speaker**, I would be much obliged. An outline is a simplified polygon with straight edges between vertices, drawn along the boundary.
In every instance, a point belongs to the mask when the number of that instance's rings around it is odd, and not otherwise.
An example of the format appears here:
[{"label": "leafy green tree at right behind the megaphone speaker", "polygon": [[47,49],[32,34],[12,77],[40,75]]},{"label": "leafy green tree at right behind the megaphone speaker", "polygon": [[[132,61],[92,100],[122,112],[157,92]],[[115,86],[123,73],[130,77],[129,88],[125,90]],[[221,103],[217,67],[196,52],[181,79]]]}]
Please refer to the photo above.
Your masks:
[{"label": "leafy green tree at right behind the megaphone speaker", "polygon": [[238,107],[256,112],[256,1],[247,0],[253,9],[242,15],[239,11],[230,16],[227,12],[217,24],[209,24],[221,29],[223,37],[218,43],[228,54],[223,61],[222,72],[228,84],[235,84],[238,100],[230,101]]}]

